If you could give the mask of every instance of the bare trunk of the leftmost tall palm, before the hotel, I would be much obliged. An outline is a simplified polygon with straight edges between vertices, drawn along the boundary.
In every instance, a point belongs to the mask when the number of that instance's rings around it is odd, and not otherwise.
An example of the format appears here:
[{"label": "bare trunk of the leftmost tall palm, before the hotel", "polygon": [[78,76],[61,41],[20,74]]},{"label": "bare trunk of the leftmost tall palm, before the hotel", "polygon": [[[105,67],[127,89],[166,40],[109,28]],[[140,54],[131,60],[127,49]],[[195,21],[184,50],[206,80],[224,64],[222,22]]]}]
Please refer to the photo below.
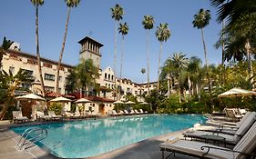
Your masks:
[{"label": "bare trunk of the leftmost tall palm, before the hotel", "polygon": [[39,33],[38,33],[38,5],[36,5],[36,58],[37,58],[37,65],[38,65],[38,72],[40,75],[40,83],[41,83],[41,89],[42,89],[42,95],[45,96],[45,85],[44,85],[44,79],[42,75],[42,68],[41,68],[41,59],[40,59],[40,53],[39,53]]}]

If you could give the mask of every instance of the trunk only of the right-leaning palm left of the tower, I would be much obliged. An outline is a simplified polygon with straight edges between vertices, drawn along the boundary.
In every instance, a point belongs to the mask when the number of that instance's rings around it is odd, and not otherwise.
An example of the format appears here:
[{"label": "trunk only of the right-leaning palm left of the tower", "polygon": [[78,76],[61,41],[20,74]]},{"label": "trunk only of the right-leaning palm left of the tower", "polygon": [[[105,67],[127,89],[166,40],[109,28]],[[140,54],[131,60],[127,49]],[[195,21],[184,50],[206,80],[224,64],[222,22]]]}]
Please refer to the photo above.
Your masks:
[{"label": "trunk only of the right-leaning palm left of the tower", "polygon": [[67,28],[68,28],[68,21],[69,21],[70,11],[71,11],[71,7],[68,7],[65,33],[64,33],[63,43],[62,43],[62,46],[61,46],[61,51],[60,51],[60,54],[59,54],[58,64],[57,64],[57,68],[56,68],[56,88],[55,88],[56,89],[55,90],[56,91],[56,97],[58,97],[57,93],[58,93],[58,85],[59,85],[59,70],[60,70],[62,56],[63,56],[63,53],[64,53],[65,44],[66,44]]}]

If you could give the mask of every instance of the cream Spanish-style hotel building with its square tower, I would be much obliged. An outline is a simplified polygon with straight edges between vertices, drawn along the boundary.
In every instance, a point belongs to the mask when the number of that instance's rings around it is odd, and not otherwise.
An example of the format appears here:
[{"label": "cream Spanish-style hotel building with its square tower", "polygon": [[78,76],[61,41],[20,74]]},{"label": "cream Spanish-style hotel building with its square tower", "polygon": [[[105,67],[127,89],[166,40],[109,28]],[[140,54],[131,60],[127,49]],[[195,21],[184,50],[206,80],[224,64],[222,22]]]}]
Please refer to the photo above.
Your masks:
[{"label": "cream Spanish-style hotel building with its square tower", "polygon": [[[111,67],[101,69],[101,52],[100,48],[103,46],[96,40],[85,37],[78,42],[81,45],[79,51],[79,61],[92,59],[95,66],[99,71],[99,78],[96,83],[100,85],[100,92],[97,96],[91,96],[90,100],[93,101],[91,104],[86,104],[87,109],[94,110],[102,114],[107,114],[109,110],[112,110],[114,106],[112,103],[117,100],[114,93],[115,83],[118,85],[118,89],[121,87],[121,100],[126,100],[125,95],[133,94],[138,96],[138,101],[143,101],[142,94],[148,94],[148,84],[136,84],[129,79],[117,79],[114,71]],[[28,54],[20,49],[20,45],[14,43],[7,54],[3,58],[3,70],[6,72],[12,72],[15,75],[18,70],[24,69],[31,75],[31,78],[21,86],[31,90],[34,94],[42,94],[40,78],[38,73],[38,65],[36,60],[36,54]],[[44,78],[46,93],[54,92],[56,86],[56,67],[57,62],[51,59],[41,57],[42,74]],[[74,68],[73,65],[62,64],[60,69],[60,81],[59,81],[59,92],[61,94],[67,94],[65,88],[67,82],[67,75]],[[156,83],[150,83],[150,90],[156,88]],[[94,94],[92,91],[89,94]]]}]

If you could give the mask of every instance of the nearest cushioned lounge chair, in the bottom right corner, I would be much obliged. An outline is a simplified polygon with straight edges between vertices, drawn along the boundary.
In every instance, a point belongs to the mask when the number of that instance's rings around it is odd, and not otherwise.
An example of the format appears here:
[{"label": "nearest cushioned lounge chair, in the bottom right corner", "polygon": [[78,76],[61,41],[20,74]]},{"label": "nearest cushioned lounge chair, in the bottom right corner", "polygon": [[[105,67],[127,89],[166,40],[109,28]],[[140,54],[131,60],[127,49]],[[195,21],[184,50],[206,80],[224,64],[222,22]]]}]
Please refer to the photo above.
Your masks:
[{"label": "nearest cushioned lounge chair, in the bottom right corner", "polygon": [[[218,145],[204,144],[197,141],[188,141],[181,139],[172,139],[160,144],[160,151],[162,151],[162,158],[165,158],[165,152],[171,154],[188,154],[200,158],[210,159],[244,159],[255,158],[256,147],[256,123],[252,124],[249,131],[244,134],[241,140],[231,149],[223,148]],[[169,154],[169,156],[171,155]],[[169,157],[168,156],[168,157]]]}]

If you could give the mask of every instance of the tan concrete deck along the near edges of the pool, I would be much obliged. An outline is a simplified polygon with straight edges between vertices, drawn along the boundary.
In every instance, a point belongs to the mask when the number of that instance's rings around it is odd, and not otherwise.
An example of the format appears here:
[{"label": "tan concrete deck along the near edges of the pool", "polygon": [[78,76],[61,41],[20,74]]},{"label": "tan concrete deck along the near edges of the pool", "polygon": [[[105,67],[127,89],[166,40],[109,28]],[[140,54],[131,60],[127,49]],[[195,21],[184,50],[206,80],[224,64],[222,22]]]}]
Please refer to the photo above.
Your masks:
[{"label": "tan concrete deck along the near edges of the pool", "polygon": [[[38,146],[34,146],[27,150],[18,150],[15,144],[19,140],[19,135],[8,129],[8,126],[14,125],[9,122],[0,123],[0,158],[5,159],[54,159],[55,155],[47,153]],[[148,138],[141,142],[130,144],[106,154],[100,154],[89,159],[161,159],[159,144],[166,141],[169,136],[177,136],[183,138],[183,131]],[[171,157],[173,158],[173,157]],[[176,154],[177,159],[194,158],[188,155]]]}]

